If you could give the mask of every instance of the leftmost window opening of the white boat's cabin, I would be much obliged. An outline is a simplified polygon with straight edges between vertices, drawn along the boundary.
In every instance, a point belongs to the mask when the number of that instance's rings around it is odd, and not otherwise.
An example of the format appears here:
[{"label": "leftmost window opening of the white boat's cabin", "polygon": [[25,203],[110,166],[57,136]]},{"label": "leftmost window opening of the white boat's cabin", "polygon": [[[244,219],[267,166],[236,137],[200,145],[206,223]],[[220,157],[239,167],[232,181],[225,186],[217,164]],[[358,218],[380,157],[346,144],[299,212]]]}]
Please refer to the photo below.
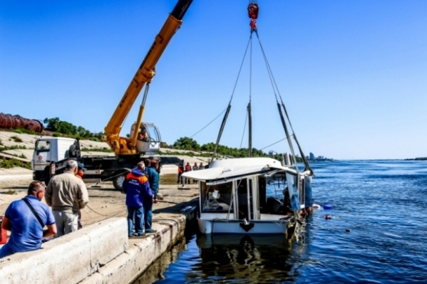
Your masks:
[{"label": "leftmost window opening of the white boat's cabin", "polygon": [[[202,212],[228,212],[231,206],[232,182],[206,185],[202,182]],[[230,210],[232,213],[233,209]]]}]

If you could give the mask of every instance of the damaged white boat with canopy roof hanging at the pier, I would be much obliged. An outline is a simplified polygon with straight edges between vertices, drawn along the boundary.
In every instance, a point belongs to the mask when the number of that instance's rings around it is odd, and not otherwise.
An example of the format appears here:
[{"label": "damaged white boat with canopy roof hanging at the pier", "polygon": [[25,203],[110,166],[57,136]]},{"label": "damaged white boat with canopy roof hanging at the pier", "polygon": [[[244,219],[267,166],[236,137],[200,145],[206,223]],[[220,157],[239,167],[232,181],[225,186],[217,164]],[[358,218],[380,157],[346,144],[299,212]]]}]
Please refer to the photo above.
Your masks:
[{"label": "damaged white boat with canopy roof hanging at the pier", "polygon": [[[200,233],[294,232],[301,214],[312,207],[310,171],[268,157],[219,159],[182,174],[199,181]],[[267,196],[274,184],[283,198]]]}]

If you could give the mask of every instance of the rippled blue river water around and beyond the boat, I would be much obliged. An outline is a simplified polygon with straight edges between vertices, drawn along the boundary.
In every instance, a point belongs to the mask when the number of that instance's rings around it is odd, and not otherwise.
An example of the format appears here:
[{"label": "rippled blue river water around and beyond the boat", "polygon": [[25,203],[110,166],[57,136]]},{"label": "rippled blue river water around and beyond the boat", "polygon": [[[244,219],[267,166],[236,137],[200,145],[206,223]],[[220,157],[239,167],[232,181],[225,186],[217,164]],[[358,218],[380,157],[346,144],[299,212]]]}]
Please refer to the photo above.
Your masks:
[{"label": "rippled blue river water around and beyond the boat", "polygon": [[312,168],[314,203],[333,209],[314,211],[298,239],[193,233],[135,283],[425,283],[427,162]]}]

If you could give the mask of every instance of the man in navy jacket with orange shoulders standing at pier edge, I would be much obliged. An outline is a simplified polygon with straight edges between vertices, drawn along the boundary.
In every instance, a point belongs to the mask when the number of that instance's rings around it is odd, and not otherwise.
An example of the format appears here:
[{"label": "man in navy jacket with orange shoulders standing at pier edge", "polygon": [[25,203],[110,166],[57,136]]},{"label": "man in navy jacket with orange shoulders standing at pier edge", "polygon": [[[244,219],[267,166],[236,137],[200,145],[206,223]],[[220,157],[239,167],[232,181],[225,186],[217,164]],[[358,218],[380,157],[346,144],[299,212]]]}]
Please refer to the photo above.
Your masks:
[{"label": "man in navy jacket with orange shoulders standing at pier edge", "polygon": [[[148,178],[144,174],[145,165],[139,162],[137,167],[130,172],[123,182],[123,191],[126,194],[126,206],[128,206],[128,236],[144,236],[144,199],[153,199]],[[135,231],[133,233],[133,216],[135,214]]]}]

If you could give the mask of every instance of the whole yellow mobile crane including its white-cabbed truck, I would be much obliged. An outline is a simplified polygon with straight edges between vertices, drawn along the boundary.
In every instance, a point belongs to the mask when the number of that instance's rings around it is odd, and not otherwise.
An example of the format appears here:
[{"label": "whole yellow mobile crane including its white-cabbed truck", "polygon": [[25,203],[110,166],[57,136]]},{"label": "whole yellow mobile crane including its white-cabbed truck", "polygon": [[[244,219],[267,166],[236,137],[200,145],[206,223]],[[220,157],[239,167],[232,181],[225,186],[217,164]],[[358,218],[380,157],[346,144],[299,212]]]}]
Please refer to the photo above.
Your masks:
[{"label": "whole yellow mobile crane including its white-cabbed truck", "polygon": [[[47,184],[54,174],[61,174],[64,171],[66,161],[73,157],[86,167],[83,180],[86,182],[112,180],[115,189],[121,190],[125,175],[143,159],[141,154],[155,154],[160,149],[161,138],[157,127],[153,123],[142,123],[145,100],[148,86],[155,75],[155,64],[162,56],[170,39],[180,28],[182,18],[191,3],[192,0],[178,0],[105,128],[107,142],[115,156],[81,156],[78,140],[61,137],[40,138],[36,140],[34,161],[43,162],[43,165],[34,167],[34,179],[44,180]],[[140,105],[138,118],[130,130],[130,138],[120,137],[125,117],[144,85],[146,87],[143,102]],[[182,160],[178,157],[159,157],[159,159],[160,164],[182,164]],[[33,164],[36,165],[36,162]]]}]

